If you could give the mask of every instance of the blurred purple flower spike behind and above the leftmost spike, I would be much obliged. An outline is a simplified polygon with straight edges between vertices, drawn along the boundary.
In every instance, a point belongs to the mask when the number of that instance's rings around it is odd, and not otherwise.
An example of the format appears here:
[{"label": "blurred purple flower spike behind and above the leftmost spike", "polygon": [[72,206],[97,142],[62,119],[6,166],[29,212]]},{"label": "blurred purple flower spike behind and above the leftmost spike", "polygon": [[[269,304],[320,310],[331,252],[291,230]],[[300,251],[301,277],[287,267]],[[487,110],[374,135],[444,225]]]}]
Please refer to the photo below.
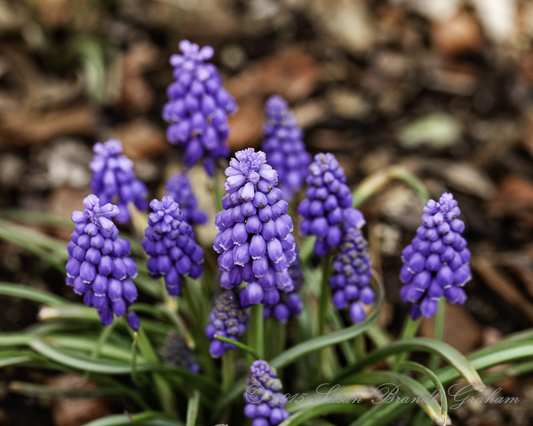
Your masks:
[{"label": "blurred purple flower spike behind and above the leftmost spike", "polygon": [[133,162],[122,154],[120,140],[98,142],[92,150],[94,156],[89,164],[92,170],[91,190],[102,205],[113,202],[118,206],[119,214],[115,220],[126,224],[130,221],[128,202],[133,202],[139,210],[148,208],[147,186],[135,177]]}]

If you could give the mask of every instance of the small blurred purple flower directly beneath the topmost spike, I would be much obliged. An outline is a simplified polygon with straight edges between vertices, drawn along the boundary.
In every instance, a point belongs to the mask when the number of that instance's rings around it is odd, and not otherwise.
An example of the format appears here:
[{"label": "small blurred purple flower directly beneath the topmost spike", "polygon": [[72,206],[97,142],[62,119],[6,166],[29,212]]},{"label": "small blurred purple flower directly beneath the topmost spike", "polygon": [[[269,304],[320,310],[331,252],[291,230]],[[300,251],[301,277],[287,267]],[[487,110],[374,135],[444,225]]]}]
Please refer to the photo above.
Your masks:
[{"label": "small blurred purple flower directly beneath the topmost spike", "polygon": [[183,220],[189,225],[203,225],[207,222],[207,214],[198,209],[198,200],[186,174],[174,173],[165,183],[167,195],[179,204]]}]

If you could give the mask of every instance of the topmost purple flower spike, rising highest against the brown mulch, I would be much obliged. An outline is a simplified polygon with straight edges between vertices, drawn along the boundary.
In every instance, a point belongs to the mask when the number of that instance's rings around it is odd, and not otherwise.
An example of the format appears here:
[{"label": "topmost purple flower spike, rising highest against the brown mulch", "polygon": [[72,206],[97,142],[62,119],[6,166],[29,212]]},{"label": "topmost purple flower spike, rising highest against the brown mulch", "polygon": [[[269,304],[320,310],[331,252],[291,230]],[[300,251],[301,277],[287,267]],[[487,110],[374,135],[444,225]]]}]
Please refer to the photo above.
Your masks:
[{"label": "topmost purple flower spike, rising highest against the brown mulch", "polygon": [[235,99],[222,87],[217,67],[204,63],[211,59],[211,46],[199,48],[188,40],[179,42],[181,55],[171,56],[174,78],[167,89],[169,102],[163,107],[163,120],[171,123],[167,139],[185,149],[184,161],[193,166],[203,159],[212,176],[217,158],[227,158],[229,135],[227,115],[237,110]]}]

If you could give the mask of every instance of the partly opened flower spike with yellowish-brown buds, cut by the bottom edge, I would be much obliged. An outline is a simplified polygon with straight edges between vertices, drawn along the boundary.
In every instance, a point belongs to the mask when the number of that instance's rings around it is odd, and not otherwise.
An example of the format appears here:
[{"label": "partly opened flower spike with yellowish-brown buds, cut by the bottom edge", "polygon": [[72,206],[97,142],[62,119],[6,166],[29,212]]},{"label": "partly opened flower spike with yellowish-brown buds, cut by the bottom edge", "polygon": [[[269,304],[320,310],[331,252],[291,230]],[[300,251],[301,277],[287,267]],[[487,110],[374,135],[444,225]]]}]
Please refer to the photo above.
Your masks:
[{"label": "partly opened flower spike with yellowish-brown buds, cut by the bottom edge", "polygon": [[287,398],[280,393],[282,382],[267,361],[258,359],[251,364],[247,384],[244,415],[253,419],[251,426],[275,425],[289,417]]}]

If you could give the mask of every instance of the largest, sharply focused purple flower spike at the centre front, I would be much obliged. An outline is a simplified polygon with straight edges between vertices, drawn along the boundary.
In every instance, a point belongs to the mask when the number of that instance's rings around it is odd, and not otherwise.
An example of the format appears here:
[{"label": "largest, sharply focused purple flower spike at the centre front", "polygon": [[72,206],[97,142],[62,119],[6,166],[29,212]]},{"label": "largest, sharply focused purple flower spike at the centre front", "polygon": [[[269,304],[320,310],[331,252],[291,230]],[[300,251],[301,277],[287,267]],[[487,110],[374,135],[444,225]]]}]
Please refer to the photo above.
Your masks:
[{"label": "largest, sharply focused purple flower spike at the centre front", "polygon": [[296,258],[289,204],[282,200],[277,172],[267,164],[265,153],[248,148],[235,157],[225,171],[224,210],[215,217],[220,285],[235,288],[246,281],[240,294],[244,307],[274,306],[280,291],[294,288],[288,271]]}]

